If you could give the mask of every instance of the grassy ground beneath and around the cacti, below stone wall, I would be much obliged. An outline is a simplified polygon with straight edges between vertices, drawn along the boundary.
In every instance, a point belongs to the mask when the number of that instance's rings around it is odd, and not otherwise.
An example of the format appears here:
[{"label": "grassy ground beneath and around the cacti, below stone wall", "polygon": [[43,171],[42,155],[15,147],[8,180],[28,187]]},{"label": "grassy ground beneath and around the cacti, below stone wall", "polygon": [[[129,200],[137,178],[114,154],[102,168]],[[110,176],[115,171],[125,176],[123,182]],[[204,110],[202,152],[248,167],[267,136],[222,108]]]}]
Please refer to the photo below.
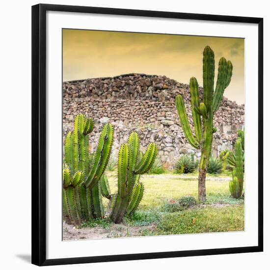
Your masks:
[{"label": "grassy ground beneath and around the cacti, below stone wall", "polygon": [[[113,193],[117,189],[116,172],[108,172],[107,175]],[[139,210],[125,218],[121,233],[109,220],[91,221],[84,226],[102,227],[108,232],[107,237],[243,231],[244,200],[230,196],[230,176],[208,175],[207,179],[207,201],[204,204],[197,201],[188,209],[169,213],[164,210],[164,205],[170,199],[179,200],[186,195],[197,198],[197,175],[145,175],[141,178],[145,193]],[[104,198],[104,203],[107,202]]]}]

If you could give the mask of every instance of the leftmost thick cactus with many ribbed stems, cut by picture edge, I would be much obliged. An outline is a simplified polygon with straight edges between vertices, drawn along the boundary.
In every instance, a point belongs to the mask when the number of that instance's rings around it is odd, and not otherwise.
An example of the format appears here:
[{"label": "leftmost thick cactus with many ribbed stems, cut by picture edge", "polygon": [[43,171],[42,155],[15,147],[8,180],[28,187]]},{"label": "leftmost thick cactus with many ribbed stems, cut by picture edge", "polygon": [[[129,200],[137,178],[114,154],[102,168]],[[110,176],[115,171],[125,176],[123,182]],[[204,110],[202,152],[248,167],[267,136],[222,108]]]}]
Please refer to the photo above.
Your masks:
[{"label": "leftmost thick cactus with many ribbed stems, cut by picture edge", "polygon": [[78,114],[73,132],[69,132],[66,136],[63,209],[66,220],[75,224],[89,217],[104,216],[100,179],[110,156],[113,129],[110,124],[103,127],[97,149],[90,154],[89,134],[93,131],[93,127],[93,119]]}]

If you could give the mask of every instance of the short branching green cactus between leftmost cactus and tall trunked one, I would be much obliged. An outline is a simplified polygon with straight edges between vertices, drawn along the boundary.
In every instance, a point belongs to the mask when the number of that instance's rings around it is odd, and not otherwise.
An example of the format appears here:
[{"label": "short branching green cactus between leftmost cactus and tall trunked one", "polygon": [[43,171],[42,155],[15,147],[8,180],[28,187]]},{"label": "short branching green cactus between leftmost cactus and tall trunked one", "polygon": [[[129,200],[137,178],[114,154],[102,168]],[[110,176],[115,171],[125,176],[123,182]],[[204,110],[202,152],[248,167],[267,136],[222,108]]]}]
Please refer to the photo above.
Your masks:
[{"label": "short branching green cactus between leftmost cactus and tall trunked one", "polygon": [[114,203],[110,218],[120,223],[126,214],[131,214],[138,207],[144,187],[139,182],[141,174],[152,167],[157,157],[158,148],[150,143],[144,155],[140,155],[139,137],[136,133],[129,136],[128,143],[123,143],[118,156],[118,192],[114,196]]}]

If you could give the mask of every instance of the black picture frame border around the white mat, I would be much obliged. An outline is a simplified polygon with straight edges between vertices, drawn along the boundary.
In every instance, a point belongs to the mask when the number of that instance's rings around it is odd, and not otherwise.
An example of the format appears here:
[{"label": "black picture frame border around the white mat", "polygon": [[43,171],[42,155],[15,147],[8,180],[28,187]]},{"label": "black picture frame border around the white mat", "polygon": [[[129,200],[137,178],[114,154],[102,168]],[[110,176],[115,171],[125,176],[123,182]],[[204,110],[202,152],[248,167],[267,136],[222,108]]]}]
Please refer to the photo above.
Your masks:
[{"label": "black picture frame border around the white mat", "polygon": [[[46,259],[46,12],[236,22],[258,25],[258,245],[232,248]],[[32,264],[38,266],[203,256],[263,251],[263,18],[131,10],[88,6],[37,4],[32,6]]]}]

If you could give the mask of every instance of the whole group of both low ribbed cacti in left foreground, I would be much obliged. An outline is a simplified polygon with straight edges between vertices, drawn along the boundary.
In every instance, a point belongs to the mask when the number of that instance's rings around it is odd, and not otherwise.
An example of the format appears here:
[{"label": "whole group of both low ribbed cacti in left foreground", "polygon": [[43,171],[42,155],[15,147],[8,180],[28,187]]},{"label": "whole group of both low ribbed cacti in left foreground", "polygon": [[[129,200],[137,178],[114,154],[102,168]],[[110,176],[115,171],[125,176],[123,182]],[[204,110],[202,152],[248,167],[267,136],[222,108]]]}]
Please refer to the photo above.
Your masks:
[{"label": "whole group of both low ribbed cacti in left foreground", "polygon": [[[104,174],[110,157],[113,129],[106,124],[101,132],[97,149],[89,153],[89,134],[93,119],[78,114],[73,132],[65,141],[63,165],[63,216],[67,223],[80,224],[89,218],[109,216],[120,223],[125,215],[137,209],[144,192],[140,175],[149,171],[155,162],[158,148],[150,143],[145,154],[139,147],[136,133],[121,145],[118,157],[118,192],[111,194],[108,178]],[[104,214],[102,196],[109,200]]]}]

